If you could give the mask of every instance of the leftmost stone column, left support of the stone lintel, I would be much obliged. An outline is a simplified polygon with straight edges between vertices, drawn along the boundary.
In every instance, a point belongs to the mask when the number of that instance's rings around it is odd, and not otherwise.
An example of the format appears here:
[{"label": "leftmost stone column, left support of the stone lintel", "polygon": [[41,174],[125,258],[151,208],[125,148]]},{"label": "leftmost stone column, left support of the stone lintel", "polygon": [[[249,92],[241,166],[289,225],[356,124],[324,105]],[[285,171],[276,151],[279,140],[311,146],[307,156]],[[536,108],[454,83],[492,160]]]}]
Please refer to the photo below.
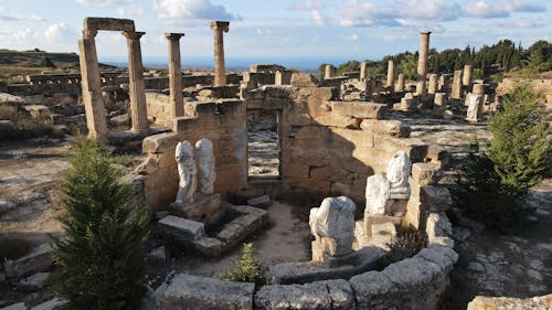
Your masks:
[{"label": "leftmost stone column, left support of the stone lintel", "polygon": [[95,30],[83,31],[83,39],[78,40],[78,54],[88,136],[103,138],[107,135],[107,121],[96,54],[96,34]]}]

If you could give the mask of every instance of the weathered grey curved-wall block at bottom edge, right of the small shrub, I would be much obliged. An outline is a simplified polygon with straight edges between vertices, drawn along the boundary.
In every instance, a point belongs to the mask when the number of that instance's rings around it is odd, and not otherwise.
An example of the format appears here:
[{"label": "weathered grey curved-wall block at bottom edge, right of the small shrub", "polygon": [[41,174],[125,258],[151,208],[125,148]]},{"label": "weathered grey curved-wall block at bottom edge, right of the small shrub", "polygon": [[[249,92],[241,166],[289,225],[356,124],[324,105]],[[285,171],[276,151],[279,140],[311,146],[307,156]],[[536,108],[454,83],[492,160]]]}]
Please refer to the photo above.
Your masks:
[{"label": "weathered grey curved-wall block at bottom edge, right of the small shrub", "polygon": [[354,296],[346,280],[317,281],[306,285],[273,285],[255,295],[258,310],[352,310]]}]

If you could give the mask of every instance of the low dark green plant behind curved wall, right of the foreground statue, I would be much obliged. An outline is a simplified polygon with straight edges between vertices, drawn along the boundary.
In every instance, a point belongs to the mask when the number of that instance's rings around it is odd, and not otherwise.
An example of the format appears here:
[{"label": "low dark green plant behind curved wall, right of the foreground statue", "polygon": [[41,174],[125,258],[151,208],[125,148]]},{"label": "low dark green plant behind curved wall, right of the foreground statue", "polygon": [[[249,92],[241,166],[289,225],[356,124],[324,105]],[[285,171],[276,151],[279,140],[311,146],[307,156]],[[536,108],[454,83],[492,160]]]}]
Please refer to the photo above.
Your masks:
[{"label": "low dark green plant behind curved wall, right of the foreground statue", "polygon": [[427,236],[425,233],[414,228],[401,231],[395,239],[389,245],[390,250],[384,258],[384,265],[388,266],[395,261],[412,257],[426,246]]}]

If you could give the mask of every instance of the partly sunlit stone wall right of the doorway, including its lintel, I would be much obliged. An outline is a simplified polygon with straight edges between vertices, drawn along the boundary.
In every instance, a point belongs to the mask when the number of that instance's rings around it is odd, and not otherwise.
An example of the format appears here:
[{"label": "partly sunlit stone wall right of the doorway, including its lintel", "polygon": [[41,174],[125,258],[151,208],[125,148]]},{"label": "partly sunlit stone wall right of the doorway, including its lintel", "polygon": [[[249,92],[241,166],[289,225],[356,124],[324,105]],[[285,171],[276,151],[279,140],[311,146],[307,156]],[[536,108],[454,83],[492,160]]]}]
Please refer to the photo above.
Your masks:
[{"label": "partly sunlit stone wall right of the doorway, including its lintel", "polygon": [[413,162],[439,152],[410,128],[383,119],[388,106],[367,101],[335,101],[331,87],[264,86],[243,93],[247,109],[283,111],[283,181],[290,191],[314,195],[347,195],[364,201],[365,181],[383,172],[389,160],[404,150]]}]

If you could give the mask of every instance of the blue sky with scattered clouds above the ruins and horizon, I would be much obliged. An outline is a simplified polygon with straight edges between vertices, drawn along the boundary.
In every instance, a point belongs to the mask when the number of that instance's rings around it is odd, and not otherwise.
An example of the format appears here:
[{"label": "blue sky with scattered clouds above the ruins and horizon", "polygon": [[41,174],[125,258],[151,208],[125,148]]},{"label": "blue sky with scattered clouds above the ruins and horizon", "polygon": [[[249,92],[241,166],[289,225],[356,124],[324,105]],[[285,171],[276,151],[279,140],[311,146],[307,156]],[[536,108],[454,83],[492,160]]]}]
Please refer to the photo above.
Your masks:
[{"label": "blue sky with scattered clouds above the ruins and horizon", "polygon": [[[213,57],[211,20],[230,21],[226,63],[284,65],[415,52],[420,31],[442,51],[500,39],[551,41],[550,0],[0,0],[0,49],[77,52],[85,17],[132,19],[145,62],[166,62],[164,32],[183,32],[183,64]],[[96,36],[100,61],[125,61],[119,32]]]}]

